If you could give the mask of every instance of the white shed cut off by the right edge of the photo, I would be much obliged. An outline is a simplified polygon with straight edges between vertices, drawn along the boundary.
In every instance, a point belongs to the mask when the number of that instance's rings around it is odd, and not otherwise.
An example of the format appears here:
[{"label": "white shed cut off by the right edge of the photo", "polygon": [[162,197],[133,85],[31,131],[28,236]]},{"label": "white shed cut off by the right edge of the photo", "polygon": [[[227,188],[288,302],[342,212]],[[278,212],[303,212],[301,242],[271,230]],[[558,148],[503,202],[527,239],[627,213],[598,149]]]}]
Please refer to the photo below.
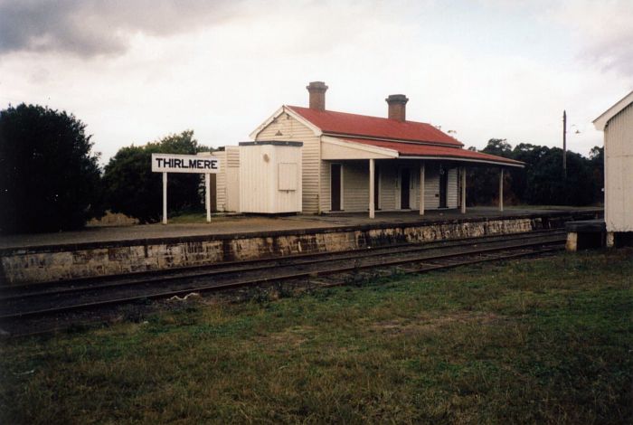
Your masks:
[{"label": "white shed cut off by the right edge of the photo", "polygon": [[633,91],[593,125],[604,131],[604,218],[613,245],[617,233],[633,232]]}]

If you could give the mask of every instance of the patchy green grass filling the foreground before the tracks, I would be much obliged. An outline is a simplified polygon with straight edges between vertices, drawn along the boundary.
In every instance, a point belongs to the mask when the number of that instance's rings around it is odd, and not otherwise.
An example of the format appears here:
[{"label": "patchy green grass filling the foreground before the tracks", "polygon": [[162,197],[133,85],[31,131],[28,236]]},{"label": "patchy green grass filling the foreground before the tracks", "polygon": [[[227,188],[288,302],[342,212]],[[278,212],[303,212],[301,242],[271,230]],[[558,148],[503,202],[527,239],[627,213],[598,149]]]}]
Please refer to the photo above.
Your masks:
[{"label": "patchy green grass filling the foreground before the tracks", "polygon": [[1,423],[630,423],[633,250],[183,305],[0,351]]}]

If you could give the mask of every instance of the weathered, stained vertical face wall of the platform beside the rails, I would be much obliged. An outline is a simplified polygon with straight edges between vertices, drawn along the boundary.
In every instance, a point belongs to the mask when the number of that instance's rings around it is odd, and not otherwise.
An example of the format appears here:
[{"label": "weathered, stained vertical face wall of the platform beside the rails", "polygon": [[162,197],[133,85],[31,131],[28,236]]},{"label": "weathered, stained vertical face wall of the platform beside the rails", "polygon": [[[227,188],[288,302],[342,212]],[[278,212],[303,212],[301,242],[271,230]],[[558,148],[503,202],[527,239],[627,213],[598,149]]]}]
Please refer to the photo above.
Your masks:
[{"label": "weathered, stained vertical face wall of the platform beside the rails", "polygon": [[[575,217],[461,219],[0,250],[2,285],[80,279],[298,253],[562,228]],[[582,218],[582,217],[581,217]],[[575,218],[576,220],[581,218]]]}]

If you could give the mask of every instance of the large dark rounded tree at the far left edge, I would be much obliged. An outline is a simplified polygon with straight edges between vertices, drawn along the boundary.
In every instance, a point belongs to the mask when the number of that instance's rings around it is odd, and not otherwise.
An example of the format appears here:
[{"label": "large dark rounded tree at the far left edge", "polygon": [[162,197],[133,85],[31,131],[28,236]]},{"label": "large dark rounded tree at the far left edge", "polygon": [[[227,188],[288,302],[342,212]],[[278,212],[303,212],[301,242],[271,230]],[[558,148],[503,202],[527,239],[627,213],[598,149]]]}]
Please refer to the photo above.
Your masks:
[{"label": "large dark rounded tree at the far left edge", "polygon": [[99,154],[85,128],[41,106],[0,111],[0,231],[78,229],[99,215]]}]

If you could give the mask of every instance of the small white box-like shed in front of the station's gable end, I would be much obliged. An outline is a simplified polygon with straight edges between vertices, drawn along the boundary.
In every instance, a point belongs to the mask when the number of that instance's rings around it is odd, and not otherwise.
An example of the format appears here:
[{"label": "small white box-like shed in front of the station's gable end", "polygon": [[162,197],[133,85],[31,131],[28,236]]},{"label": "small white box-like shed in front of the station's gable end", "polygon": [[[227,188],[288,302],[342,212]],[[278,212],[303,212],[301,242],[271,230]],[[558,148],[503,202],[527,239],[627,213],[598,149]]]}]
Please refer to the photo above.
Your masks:
[{"label": "small white box-like shed in front of the station's gable end", "polygon": [[241,213],[301,213],[300,142],[240,144]]}]

